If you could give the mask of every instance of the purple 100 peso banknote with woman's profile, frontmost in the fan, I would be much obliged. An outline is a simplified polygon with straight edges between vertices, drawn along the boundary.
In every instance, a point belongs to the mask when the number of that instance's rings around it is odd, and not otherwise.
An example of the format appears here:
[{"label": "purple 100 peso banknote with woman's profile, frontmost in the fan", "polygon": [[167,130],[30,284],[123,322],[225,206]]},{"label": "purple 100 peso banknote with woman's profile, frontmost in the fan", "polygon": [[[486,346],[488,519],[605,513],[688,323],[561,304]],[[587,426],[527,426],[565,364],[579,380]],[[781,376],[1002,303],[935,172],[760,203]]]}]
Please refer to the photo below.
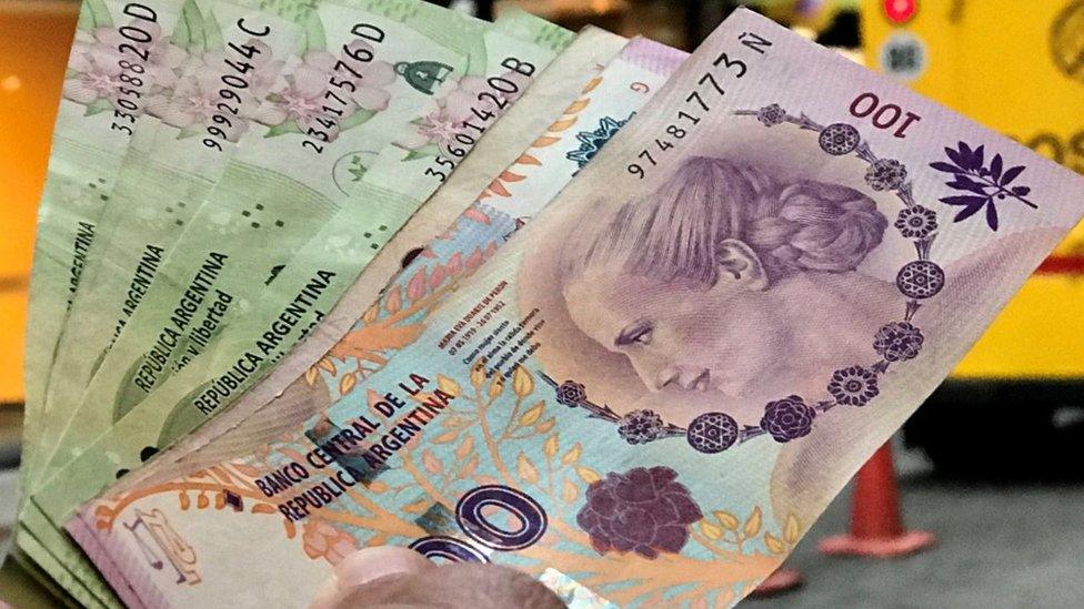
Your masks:
[{"label": "purple 100 peso banknote with woman's profile, frontmost in the fan", "polygon": [[560,571],[623,606],[730,605],[1082,194],[741,11],[380,371],[262,448],[87,504],[68,529],[144,606],[303,603],[329,562],[379,544]]}]

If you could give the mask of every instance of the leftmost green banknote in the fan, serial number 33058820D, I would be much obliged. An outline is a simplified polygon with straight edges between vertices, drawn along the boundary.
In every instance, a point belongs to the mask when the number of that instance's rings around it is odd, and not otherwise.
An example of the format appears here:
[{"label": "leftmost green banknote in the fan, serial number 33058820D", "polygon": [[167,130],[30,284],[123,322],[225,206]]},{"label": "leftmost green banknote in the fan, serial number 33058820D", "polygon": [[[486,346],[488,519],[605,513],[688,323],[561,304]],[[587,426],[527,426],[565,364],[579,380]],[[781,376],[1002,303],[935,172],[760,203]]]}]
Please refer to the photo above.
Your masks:
[{"label": "leftmost green banknote in the fan, serial number 33058820D", "polygon": [[[87,255],[99,231],[99,216],[109,201],[123,158],[147,99],[173,85],[179,55],[168,33],[181,13],[180,1],[113,2],[88,0],[80,9],[64,74],[64,94],[53,133],[49,174],[39,207],[38,236],[27,324],[27,427],[20,473],[26,490],[31,469],[40,463],[46,441],[44,397],[57,342],[77,293]],[[42,570],[64,567],[24,530],[16,551]],[[83,561],[86,572],[92,568]],[[72,597],[94,605],[94,595],[58,580]],[[108,587],[97,588],[111,598]]]}]

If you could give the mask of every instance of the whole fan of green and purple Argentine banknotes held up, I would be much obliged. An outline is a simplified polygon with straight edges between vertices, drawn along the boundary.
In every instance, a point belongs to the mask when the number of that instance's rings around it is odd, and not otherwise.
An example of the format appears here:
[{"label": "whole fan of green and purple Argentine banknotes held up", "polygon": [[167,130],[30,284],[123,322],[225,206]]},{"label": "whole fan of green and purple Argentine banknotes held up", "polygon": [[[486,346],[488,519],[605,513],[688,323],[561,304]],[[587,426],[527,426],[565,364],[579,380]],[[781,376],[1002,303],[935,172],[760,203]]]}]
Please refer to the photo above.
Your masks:
[{"label": "whole fan of green and purple Argentine banknotes held up", "polygon": [[749,11],[689,55],[420,0],[83,0],[13,558],[88,607],[301,607],[379,545],[733,605],[1082,201]]}]

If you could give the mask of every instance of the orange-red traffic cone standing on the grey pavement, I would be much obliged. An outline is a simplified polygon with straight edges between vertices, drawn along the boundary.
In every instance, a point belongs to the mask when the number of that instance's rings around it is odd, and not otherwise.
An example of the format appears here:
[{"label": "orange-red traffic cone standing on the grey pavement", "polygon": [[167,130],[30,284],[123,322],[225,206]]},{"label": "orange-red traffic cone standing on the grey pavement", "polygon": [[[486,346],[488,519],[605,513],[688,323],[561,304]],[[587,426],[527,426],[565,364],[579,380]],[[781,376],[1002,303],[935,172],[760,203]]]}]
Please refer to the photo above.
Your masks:
[{"label": "orange-red traffic cone standing on the grey pavement", "polygon": [[935,541],[932,532],[903,528],[892,445],[886,443],[856,476],[851,532],[829,537],[817,545],[817,549],[829,555],[891,558],[921,551]]}]

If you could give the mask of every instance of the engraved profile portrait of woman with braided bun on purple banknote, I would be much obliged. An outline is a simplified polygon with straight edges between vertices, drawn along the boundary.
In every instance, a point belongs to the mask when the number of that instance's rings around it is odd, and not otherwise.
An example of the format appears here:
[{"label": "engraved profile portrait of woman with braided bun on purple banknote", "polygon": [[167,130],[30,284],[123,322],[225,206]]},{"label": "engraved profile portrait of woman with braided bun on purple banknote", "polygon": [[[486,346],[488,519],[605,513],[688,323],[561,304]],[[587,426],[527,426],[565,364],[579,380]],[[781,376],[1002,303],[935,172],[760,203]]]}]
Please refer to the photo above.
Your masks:
[{"label": "engraved profile portrait of woman with braided bun on purple banknote", "polygon": [[[870,365],[879,333],[904,322],[897,278],[916,256],[897,224],[903,202],[874,187],[866,161],[825,154],[815,133],[751,122],[694,144],[697,154],[653,187],[600,201],[586,217],[539,222],[550,234],[533,235],[541,251],[519,270],[520,298],[546,321],[538,357],[548,374],[575,379],[618,417],[646,409],[689,428],[725,413],[756,426],[765,405],[786,396],[841,399],[849,385],[836,395],[834,374],[872,378],[839,402],[857,407],[820,412],[815,430],[786,438],[796,441],[765,437],[752,453],[735,445],[726,454],[727,467],[774,455],[773,488],[790,504],[801,485],[787,480],[810,475],[817,459],[847,458],[846,437],[884,424],[876,405],[891,397],[874,399],[874,387],[890,388],[893,371],[879,376]],[[543,256],[552,262],[539,264]],[[984,252],[942,262],[945,292],[984,290],[973,270],[1003,264]],[[895,326],[922,335],[899,364],[925,366],[915,356],[922,341],[937,348],[948,331],[941,308],[924,300],[913,325]]]}]

